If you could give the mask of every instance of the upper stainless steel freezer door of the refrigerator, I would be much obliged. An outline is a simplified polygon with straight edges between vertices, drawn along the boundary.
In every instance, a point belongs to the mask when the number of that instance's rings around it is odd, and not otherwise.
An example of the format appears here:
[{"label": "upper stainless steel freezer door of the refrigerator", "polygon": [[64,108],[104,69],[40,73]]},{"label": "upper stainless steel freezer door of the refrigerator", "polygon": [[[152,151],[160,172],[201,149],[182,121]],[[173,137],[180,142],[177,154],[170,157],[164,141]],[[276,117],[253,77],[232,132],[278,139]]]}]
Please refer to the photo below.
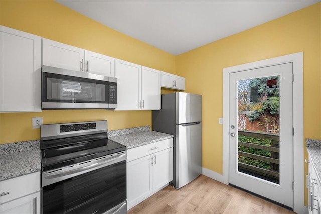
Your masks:
[{"label": "upper stainless steel freezer door of the refrigerator", "polygon": [[202,120],[202,96],[185,92],[176,93],[176,124]]}]

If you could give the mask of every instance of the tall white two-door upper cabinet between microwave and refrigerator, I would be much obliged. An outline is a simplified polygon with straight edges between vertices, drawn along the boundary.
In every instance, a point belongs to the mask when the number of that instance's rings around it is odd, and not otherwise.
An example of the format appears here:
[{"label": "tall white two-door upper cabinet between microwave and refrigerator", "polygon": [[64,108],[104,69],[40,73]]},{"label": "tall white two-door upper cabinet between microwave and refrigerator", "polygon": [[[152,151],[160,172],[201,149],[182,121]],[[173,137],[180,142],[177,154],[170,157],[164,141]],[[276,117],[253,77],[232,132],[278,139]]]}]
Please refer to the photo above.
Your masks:
[{"label": "tall white two-door upper cabinet between microwave and refrigerator", "polygon": [[161,71],[115,60],[116,110],[161,109]]}]

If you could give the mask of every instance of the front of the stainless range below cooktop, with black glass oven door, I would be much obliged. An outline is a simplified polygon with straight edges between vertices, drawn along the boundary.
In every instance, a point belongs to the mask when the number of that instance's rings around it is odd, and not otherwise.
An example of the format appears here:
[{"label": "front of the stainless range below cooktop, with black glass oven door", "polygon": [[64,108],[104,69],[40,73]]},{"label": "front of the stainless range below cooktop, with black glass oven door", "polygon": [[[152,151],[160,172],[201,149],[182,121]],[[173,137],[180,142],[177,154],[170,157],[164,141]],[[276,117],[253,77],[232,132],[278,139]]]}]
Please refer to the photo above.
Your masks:
[{"label": "front of the stainless range below cooktop, with black glass oven door", "polygon": [[42,187],[42,213],[126,213],[126,157],[110,157],[43,172],[54,181]]}]

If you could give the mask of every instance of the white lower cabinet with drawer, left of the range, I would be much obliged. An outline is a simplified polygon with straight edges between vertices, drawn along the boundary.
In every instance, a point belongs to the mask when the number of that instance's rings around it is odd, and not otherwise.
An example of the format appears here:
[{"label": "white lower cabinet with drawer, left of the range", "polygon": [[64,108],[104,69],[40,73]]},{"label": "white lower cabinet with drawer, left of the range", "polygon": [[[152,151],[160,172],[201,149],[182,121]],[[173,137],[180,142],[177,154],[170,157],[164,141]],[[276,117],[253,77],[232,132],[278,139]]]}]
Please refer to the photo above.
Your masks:
[{"label": "white lower cabinet with drawer, left of the range", "polygon": [[40,213],[40,172],[0,182],[0,213]]}]

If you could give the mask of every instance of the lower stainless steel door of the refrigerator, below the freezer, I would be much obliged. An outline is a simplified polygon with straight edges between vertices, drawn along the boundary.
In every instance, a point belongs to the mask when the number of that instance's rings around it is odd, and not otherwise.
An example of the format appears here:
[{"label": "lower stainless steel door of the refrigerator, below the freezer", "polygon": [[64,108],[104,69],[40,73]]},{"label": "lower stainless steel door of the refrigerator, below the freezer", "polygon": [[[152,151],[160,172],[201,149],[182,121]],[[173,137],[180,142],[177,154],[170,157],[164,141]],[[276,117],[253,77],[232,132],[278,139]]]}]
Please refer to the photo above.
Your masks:
[{"label": "lower stainless steel door of the refrigerator, below the freezer", "polygon": [[181,188],[202,173],[202,123],[177,125],[176,128],[177,176],[174,186]]}]

